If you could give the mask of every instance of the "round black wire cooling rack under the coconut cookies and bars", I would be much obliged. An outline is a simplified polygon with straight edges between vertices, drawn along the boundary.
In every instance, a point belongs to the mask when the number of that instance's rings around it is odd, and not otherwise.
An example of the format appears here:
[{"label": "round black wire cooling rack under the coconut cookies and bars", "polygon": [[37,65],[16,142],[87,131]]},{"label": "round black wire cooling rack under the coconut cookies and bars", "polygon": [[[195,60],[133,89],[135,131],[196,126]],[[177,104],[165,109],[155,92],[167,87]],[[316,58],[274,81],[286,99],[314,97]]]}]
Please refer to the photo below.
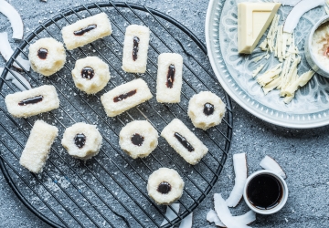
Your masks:
[{"label": "round black wire cooling rack under the coconut cookies and bars", "polygon": [[[65,67],[50,78],[40,77],[36,72],[22,72],[32,87],[50,84],[57,88],[60,108],[28,119],[11,117],[5,108],[4,98],[18,89],[5,77],[12,72],[13,63],[20,66],[16,57],[27,57],[29,45],[41,37],[52,36],[62,41],[60,29],[63,26],[101,12],[110,17],[111,36],[67,51]],[[147,71],[142,75],[127,74],[121,68],[124,30],[130,24],[151,29]],[[117,85],[133,78],[143,78],[155,96],[156,61],[163,52],[176,52],[184,58],[182,101],[166,105],[152,98],[116,118],[108,118],[100,97]],[[70,75],[75,61],[87,56],[101,57],[110,66],[111,80],[96,96],[80,92]],[[17,80],[20,81],[19,78]],[[231,101],[211,70],[206,47],[185,26],[146,6],[112,2],[90,4],[53,17],[38,26],[16,49],[5,66],[0,88],[1,170],[27,208],[55,227],[160,227],[163,220],[168,221],[164,227],[170,227],[179,223],[205,199],[218,180],[228,156],[233,124]],[[227,105],[222,123],[207,131],[195,129],[186,114],[188,99],[203,90],[218,94]],[[133,160],[120,149],[118,134],[126,123],[133,119],[147,119],[160,133],[174,118],[183,120],[209,149],[207,156],[197,165],[187,164],[162,138],[159,138],[157,149],[145,159]],[[59,135],[44,171],[35,175],[22,168],[18,161],[37,119],[56,125]],[[99,155],[87,162],[71,158],[60,145],[63,131],[79,121],[97,124],[103,137]],[[175,169],[186,182],[183,196],[178,201],[180,211],[174,221],[164,216],[165,206],[155,204],[147,195],[148,176],[160,167]]]}]

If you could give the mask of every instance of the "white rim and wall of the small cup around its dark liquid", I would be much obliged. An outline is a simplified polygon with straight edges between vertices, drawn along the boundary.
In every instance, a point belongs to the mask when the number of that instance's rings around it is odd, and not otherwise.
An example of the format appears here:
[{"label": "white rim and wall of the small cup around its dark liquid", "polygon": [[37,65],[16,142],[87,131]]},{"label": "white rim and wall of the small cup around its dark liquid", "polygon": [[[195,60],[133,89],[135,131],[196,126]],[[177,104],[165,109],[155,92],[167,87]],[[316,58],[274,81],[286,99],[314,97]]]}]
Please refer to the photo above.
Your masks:
[{"label": "white rim and wall of the small cup around its dark liquid", "polygon": [[[271,176],[273,176],[274,178],[276,178],[278,181],[281,182],[281,187],[282,187],[282,197],[281,197],[281,201],[279,202],[279,204],[269,210],[261,210],[259,208],[256,208],[254,205],[252,205],[249,202],[248,196],[247,196],[247,188],[249,185],[249,182],[256,176],[260,175],[260,174],[269,174]],[[245,187],[243,189],[243,199],[245,200],[245,202],[247,203],[247,205],[249,206],[249,208],[257,213],[260,214],[271,214],[271,213],[275,213],[275,212],[279,212],[281,210],[281,208],[284,206],[284,204],[287,202],[288,200],[288,186],[287,183],[283,180],[283,178],[281,178],[280,175],[276,174],[273,171],[255,171],[254,173],[252,173],[249,178],[246,181]]]}]

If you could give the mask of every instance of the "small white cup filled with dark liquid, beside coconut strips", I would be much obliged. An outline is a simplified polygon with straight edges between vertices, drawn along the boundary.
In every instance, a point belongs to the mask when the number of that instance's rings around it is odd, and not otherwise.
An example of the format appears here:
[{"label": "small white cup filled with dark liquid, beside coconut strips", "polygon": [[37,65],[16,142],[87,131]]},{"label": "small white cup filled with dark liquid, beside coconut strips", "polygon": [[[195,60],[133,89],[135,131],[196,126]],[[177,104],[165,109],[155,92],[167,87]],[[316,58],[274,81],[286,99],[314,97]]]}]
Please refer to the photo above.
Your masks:
[{"label": "small white cup filled with dark liquid, beside coconut strips", "polygon": [[245,183],[243,199],[254,212],[279,212],[288,199],[287,183],[273,171],[255,171]]}]

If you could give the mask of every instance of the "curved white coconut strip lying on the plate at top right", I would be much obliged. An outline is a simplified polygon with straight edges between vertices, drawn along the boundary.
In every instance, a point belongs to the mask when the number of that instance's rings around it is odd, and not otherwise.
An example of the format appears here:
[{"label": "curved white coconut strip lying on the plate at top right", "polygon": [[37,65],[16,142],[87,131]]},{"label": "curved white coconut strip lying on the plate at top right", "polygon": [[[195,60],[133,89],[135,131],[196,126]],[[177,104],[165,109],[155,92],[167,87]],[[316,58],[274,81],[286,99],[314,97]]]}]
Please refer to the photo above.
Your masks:
[{"label": "curved white coconut strip lying on the plate at top right", "polygon": [[285,20],[283,32],[292,33],[303,14],[319,5],[324,5],[324,0],[302,0],[297,3]]}]

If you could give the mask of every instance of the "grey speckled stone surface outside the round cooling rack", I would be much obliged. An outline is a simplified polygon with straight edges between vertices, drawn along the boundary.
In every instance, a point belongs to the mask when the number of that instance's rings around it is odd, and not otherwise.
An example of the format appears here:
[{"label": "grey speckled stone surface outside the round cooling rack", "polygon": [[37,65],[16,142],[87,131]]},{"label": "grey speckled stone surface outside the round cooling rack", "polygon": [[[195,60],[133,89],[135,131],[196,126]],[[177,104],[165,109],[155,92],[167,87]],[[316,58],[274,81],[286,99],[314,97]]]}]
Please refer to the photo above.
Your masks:
[{"label": "grey speckled stone surface outside the round cooling rack", "polygon": [[[26,28],[25,35],[27,35],[40,22],[55,16],[61,9],[95,2],[95,0],[48,0],[47,3],[39,0],[12,0],[9,2],[15,5],[21,14]],[[204,23],[207,1],[132,0],[130,2],[147,5],[173,16],[203,42],[205,41]],[[3,31],[11,33],[9,22],[5,16],[0,15],[0,32]],[[18,45],[18,43],[12,45]],[[3,58],[0,57],[0,66],[3,65]],[[234,102],[233,106],[234,136],[228,161],[218,183],[194,212],[193,227],[215,226],[207,223],[206,214],[210,208],[213,208],[214,192],[222,192],[224,197],[228,197],[234,184],[232,154],[239,152],[247,153],[249,174],[260,170],[260,160],[265,155],[270,155],[279,161],[288,175],[287,184],[290,196],[286,206],[281,212],[273,215],[257,215],[257,221],[252,223],[253,227],[328,227],[328,127],[313,130],[284,129],[253,117]],[[2,173],[0,174],[0,195],[1,227],[48,227],[17,200]],[[247,210],[246,204],[240,202],[239,206],[231,212],[240,214]],[[120,223],[117,225],[122,226]]]}]

